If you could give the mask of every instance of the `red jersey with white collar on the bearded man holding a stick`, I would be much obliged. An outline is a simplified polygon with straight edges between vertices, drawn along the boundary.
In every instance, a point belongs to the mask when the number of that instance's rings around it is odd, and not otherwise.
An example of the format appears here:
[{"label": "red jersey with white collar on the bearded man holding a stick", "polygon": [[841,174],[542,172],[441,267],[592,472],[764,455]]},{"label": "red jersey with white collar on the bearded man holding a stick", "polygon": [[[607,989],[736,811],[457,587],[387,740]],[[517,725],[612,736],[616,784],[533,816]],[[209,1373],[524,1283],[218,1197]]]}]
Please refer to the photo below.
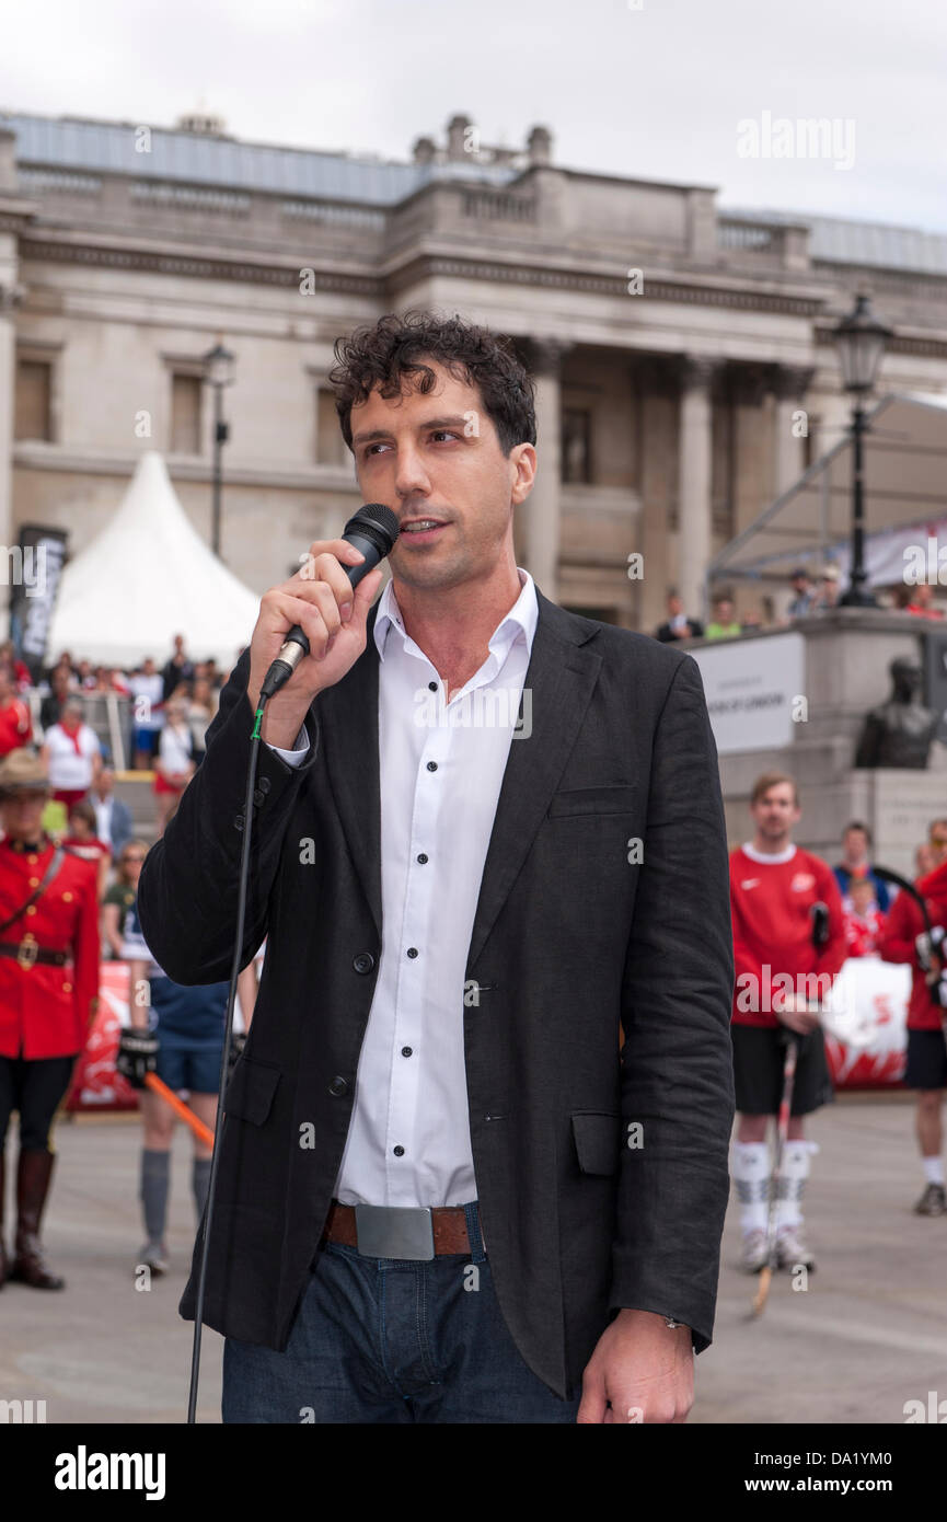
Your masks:
[{"label": "red jersey with white collar on the bearded man holding a stick", "polygon": [[[761,860],[738,846],[729,858],[734,924],[734,1023],[778,1026],[773,1000],[783,992],[811,994],[845,960],[842,896],[834,872],[810,851],[792,848],[789,860]],[[828,907],[828,941],[811,942],[811,906]]]}]

